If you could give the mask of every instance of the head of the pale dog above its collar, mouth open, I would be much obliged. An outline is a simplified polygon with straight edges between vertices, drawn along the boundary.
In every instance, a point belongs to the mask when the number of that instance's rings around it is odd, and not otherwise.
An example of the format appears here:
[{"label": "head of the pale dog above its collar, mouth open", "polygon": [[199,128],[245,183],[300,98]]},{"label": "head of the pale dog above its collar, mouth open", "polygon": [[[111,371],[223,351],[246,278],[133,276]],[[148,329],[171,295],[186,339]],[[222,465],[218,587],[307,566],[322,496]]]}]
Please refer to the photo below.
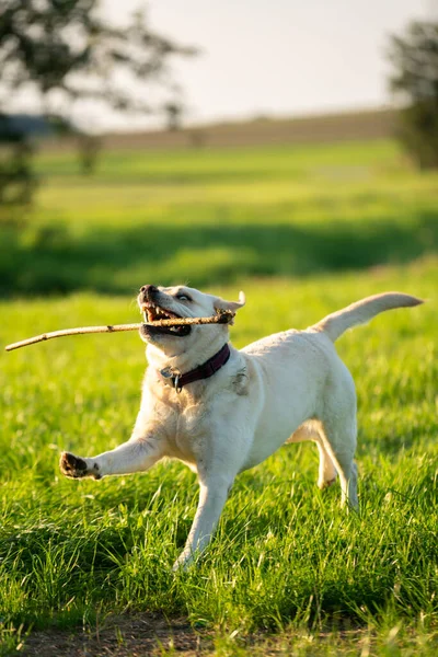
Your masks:
[{"label": "head of the pale dog above its collar, mouth open", "polygon": [[[206,295],[186,286],[154,287],[145,285],[138,295],[138,304],[146,310],[149,322],[172,318],[207,318],[218,310],[235,312],[245,303],[243,292],[239,301],[226,301],[220,297]],[[210,324],[208,326],[150,326],[143,324],[140,328],[141,338],[158,348],[166,357],[177,357],[189,354],[195,347],[197,353],[208,350],[208,345],[216,346],[228,339],[227,324]]]}]

